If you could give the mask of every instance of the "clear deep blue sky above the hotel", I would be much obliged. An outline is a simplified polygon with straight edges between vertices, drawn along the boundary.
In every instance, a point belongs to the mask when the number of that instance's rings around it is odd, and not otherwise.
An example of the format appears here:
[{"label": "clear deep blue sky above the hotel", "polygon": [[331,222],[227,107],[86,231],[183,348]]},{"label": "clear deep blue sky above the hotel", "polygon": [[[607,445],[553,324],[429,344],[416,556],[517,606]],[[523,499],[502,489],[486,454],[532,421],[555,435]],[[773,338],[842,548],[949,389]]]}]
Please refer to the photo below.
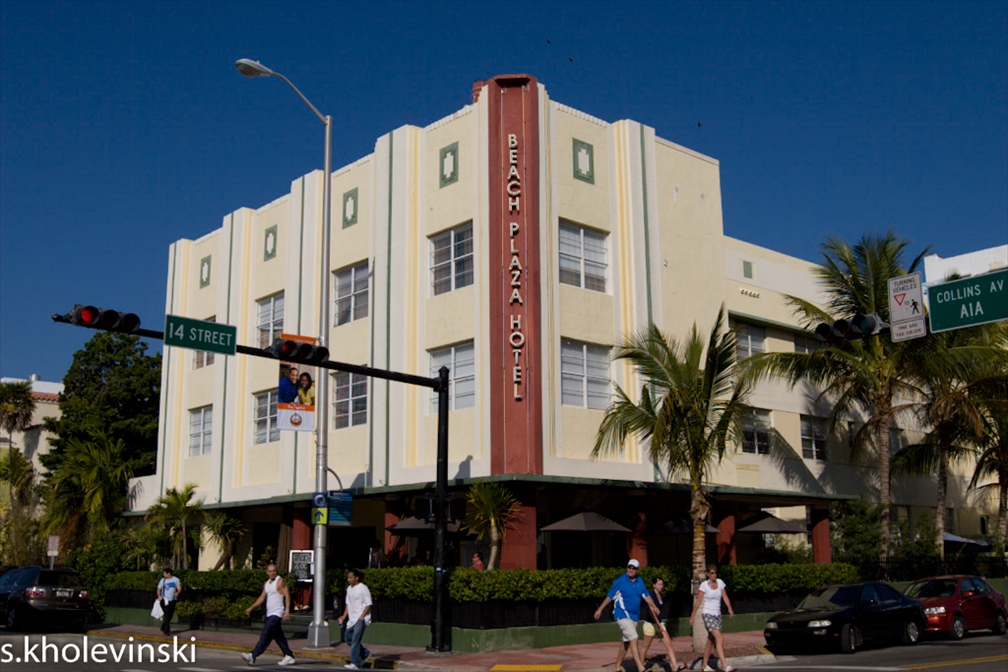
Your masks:
[{"label": "clear deep blue sky above the hotel", "polygon": [[1003,1],[4,0],[0,54],[3,376],[61,379],[92,332],[49,317],[76,302],[162,328],[168,245],[322,167],[322,125],[240,57],[333,115],[336,167],[520,72],[720,160],[729,236],[1008,243]]}]

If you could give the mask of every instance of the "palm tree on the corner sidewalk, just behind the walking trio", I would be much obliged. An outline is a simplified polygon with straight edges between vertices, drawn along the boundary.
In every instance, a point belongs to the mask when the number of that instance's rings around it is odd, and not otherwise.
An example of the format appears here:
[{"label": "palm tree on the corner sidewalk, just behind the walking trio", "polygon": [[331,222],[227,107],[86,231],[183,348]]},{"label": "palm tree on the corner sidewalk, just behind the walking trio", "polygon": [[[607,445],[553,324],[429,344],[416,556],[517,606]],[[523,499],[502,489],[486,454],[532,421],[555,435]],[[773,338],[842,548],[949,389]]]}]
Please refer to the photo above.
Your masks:
[{"label": "palm tree on the corner sidewalk, just behind the walking trio", "polygon": [[640,401],[635,403],[616,386],[616,399],[606,410],[592,450],[593,457],[620,452],[633,434],[647,442],[651,461],[664,468],[668,481],[686,477],[694,525],[692,573],[698,583],[707,566],[704,530],[711,508],[707,480],[727,444],[738,438],[739,422],[749,410],[748,384],[736,375],[735,346],[724,306],[706,343],[696,324],[682,343],[654,325],[627,337],[615,359],[633,364],[643,380]]}]

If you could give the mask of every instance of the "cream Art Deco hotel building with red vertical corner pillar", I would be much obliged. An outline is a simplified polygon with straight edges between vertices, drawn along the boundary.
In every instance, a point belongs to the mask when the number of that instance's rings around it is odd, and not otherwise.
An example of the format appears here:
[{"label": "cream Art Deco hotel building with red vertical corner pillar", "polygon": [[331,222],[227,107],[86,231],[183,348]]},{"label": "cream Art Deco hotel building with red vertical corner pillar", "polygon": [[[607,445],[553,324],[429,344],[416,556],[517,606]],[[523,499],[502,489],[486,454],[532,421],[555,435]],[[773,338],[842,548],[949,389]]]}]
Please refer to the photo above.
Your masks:
[{"label": "cream Art Deco hotel building with red vertical corner pillar", "polygon": [[[612,384],[639,386],[612,349],[650,322],[707,331],[724,304],[743,355],[793,351],[809,344],[784,295],[823,304],[812,264],[724,235],[718,161],[638,122],[565,107],[519,75],[477,83],[471,105],[395,129],[334,172],[327,269],[322,177],[171,245],[166,312],[236,325],[253,347],[281,331],[317,335],[325,275],[332,360],[421,376],[451,368],[451,489],[503,481],[524,509],[502,566],[620,563],[628,549],[686,562],[688,542],[664,524],[687,515],[687,487],[662,483],[632,441],[591,458]],[[267,546],[281,560],[310,548],[314,434],[275,428],[276,382],[275,361],[165,347],[157,473],[140,479],[134,509],[193,483],[205,507],[252,531],[246,560]],[[422,538],[397,551],[385,528],[431,489],[432,393],[339,373],[331,384],[330,488],[354,493],[353,527],[331,528],[331,562],[363,563],[376,538],[390,555],[419,552]],[[760,410],[746,441],[712,477],[720,561],[754,559],[758,535],[735,530],[761,510],[806,525],[815,559],[829,561],[830,503],[875,490],[871,463],[852,462],[846,428],[829,434],[814,397],[771,383],[751,398]],[[966,483],[955,475],[950,507],[953,530],[969,535],[983,512]],[[933,511],[927,479],[897,482],[894,497],[902,517]],[[578,511],[632,533],[539,532]]]}]

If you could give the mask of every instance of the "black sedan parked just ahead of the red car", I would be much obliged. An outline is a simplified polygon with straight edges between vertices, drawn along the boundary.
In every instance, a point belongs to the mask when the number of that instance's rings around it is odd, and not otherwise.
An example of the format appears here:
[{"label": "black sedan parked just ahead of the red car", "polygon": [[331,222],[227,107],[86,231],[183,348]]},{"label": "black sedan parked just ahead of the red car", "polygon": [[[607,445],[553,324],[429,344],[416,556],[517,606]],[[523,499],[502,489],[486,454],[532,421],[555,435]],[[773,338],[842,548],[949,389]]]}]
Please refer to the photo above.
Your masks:
[{"label": "black sedan parked just ahead of the red car", "polygon": [[920,602],[888,583],[826,585],[767,621],[763,637],[771,647],[854,653],[866,642],[916,644],[926,622]]}]

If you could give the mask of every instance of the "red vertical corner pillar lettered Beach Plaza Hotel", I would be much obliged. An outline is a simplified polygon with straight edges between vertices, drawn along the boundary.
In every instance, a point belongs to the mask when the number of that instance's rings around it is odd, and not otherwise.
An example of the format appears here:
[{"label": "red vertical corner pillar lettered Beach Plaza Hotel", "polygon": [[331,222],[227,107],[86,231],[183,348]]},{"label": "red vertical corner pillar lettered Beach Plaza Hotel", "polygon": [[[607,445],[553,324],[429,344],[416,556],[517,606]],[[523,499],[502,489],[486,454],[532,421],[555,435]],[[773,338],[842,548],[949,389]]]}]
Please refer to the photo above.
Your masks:
[{"label": "red vertical corner pillar lettered Beach Plaza Hotel", "polygon": [[541,474],[538,85],[501,76],[487,96],[492,472]]}]

